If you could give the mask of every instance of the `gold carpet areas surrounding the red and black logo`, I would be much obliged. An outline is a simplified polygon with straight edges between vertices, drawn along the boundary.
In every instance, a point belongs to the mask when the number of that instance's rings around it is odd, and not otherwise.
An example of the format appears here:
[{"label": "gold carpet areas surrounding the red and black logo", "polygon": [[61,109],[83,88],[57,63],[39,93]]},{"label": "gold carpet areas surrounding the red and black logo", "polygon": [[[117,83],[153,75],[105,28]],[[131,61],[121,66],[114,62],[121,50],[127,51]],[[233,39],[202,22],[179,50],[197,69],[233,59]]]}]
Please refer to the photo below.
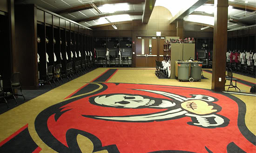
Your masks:
[{"label": "gold carpet areas surrounding the red and black logo", "polygon": [[[74,93],[77,89],[90,83],[96,77],[100,76],[109,68],[98,68],[87,74],[78,77],[68,83],[65,83],[49,92],[38,96],[16,108],[13,108],[6,113],[0,115],[0,142],[6,140],[10,135],[14,134],[21,127],[28,125],[28,131],[34,142],[41,148],[40,153],[55,153],[48,147],[38,136],[35,130],[35,119],[42,110],[62,102],[67,96]],[[113,68],[114,69],[114,68]],[[139,68],[118,68],[115,74],[107,81],[108,83],[139,83],[139,84],[155,84],[169,85],[178,87],[192,87],[200,89],[211,89],[211,74],[203,72],[204,77],[201,82],[179,82],[176,79],[158,79],[155,76],[154,69],[139,69]],[[251,83],[256,83],[255,78],[245,77],[234,74],[234,77],[241,78]],[[97,82],[96,82],[97,83]],[[249,86],[238,83],[237,86],[241,92],[249,93]],[[227,87],[226,87],[227,90]],[[236,91],[229,89],[229,91]],[[242,100],[246,105],[245,124],[249,131],[256,135],[256,96],[231,94]],[[71,99],[74,97],[67,98]],[[110,138],[111,139],[111,138]],[[92,153],[94,150],[93,143],[90,139],[79,135],[77,142],[83,153]],[[108,153],[107,150],[96,151],[95,153]]]}]

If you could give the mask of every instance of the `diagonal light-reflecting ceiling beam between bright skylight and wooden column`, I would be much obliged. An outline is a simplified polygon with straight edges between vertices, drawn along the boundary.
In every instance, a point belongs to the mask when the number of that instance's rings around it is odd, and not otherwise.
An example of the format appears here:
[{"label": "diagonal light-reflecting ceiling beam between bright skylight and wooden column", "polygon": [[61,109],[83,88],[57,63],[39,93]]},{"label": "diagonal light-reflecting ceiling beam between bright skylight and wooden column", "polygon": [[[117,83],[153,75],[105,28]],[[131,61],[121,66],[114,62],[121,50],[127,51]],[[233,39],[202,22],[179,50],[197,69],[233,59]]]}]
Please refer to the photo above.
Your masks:
[{"label": "diagonal light-reflecting ceiling beam between bright skylight and wooden column", "polygon": [[171,20],[170,24],[174,22],[176,19],[183,19],[185,16],[189,15],[190,13],[194,12],[196,8],[205,4],[208,0],[198,0],[191,6],[183,7],[180,12],[178,12]]}]

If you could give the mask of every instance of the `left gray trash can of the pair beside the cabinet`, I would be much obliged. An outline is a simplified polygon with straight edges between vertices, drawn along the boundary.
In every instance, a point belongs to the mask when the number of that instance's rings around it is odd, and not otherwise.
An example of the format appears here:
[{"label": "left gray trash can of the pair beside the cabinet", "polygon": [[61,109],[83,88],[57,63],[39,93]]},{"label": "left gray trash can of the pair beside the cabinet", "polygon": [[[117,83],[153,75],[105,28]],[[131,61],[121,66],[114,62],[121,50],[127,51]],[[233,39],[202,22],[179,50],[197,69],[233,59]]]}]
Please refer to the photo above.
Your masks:
[{"label": "left gray trash can of the pair beside the cabinet", "polygon": [[189,62],[178,62],[178,80],[189,81]]}]

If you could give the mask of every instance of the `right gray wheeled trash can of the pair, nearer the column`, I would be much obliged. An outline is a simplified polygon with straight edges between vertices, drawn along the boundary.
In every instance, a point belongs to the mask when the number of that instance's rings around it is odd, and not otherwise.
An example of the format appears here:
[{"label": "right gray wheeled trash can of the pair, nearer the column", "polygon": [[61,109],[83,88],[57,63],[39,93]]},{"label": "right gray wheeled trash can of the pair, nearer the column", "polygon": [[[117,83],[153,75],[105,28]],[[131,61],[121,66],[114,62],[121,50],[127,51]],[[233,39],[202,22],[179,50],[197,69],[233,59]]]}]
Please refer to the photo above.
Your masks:
[{"label": "right gray wheeled trash can of the pair, nearer the column", "polygon": [[191,62],[191,71],[189,81],[201,81],[202,62]]}]

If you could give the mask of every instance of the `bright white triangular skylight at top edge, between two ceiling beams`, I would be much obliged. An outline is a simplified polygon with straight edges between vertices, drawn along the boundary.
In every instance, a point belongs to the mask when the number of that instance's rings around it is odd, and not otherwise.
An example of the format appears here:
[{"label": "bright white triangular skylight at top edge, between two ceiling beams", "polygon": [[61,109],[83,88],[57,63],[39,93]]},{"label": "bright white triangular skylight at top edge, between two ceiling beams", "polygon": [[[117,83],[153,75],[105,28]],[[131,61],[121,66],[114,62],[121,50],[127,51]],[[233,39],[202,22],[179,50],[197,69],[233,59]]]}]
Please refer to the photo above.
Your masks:
[{"label": "bright white triangular skylight at top edge, between two ceiling beams", "polygon": [[195,4],[198,0],[156,0],[155,6],[167,8],[174,17],[182,8]]}]

